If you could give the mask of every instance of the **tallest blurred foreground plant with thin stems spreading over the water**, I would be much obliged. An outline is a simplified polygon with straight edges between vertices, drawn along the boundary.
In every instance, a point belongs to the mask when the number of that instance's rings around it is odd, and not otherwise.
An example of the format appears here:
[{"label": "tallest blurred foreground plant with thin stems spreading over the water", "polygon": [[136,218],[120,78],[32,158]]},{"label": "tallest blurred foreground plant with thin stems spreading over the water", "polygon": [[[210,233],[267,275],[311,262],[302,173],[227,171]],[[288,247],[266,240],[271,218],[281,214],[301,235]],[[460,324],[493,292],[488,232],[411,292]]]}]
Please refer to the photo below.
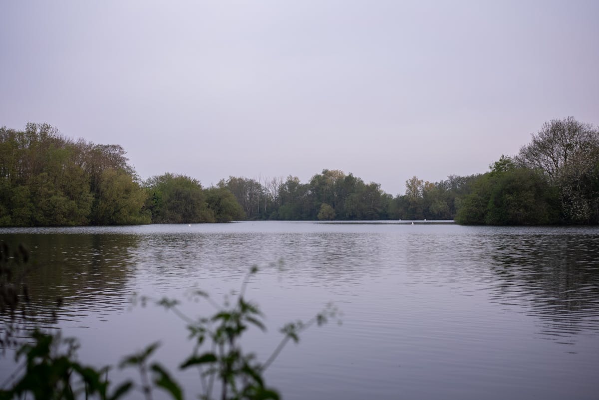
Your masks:
[{"label": "tallest blurred foreground plant with thin stems spreading over the water", "polygon": [[[241,336],[250,326],[265,331],[266,328],[262,322],[262,312],[258,305],[247,301],[245,291],[247,283],[252,275],[258,272],[257,266],[252,266],[241,284],[241,290],[236,295],[236,301],[219,305],[211,299],[207,293],[201,290],[195,290],[192,296],[205,299],[213,305],[216,310],[211,317],[202,317],[192,319],[179,309],[180,302],[175,299],[161,298],[151,299],[146,296],[134,298],[134,303],[140,302],[142,305],[149,301],[172,311],[181,320],[187,324],[189,339],[193,341],[192,354],[184,360],[179,368],[184,370],[196,368],[199,372],[202,393],[199,398],[202,400],[213,399],[213,393],[219,392],[216,398],[221,399],[279,399],[279,393],[268,387],[264,382],[264,371],[270,366],[285,344],[292,340],[299,341],[299,333],[313,325],[323,325],[330,319],[337,319],[338,310],[332,304],[307,322],[297,321],[288,323],[280,329],[283,338],[270,357],[260,363],[256,360],[253,353],[246,353],[241,349],[239,341]],[[148,349],[155,350],[156,345]],[[133,362],[131,362],[133,361]],[[122,365],[136,365],[137,359],[125,360]],[[140,363],[137,363],[140,366]],[[141,369],[140,369],[141,370]],[[142,375],[144,374],[141,370]],[[159,375],[162,372],[155,371]],[[163,380],[168,380],[166,376],[160,376]],[[167,387],[162,386],[163,389]],[[174,387],[174,386],[172,386]],[[180,399],[180,390],[171,390],[173,398]]]}]

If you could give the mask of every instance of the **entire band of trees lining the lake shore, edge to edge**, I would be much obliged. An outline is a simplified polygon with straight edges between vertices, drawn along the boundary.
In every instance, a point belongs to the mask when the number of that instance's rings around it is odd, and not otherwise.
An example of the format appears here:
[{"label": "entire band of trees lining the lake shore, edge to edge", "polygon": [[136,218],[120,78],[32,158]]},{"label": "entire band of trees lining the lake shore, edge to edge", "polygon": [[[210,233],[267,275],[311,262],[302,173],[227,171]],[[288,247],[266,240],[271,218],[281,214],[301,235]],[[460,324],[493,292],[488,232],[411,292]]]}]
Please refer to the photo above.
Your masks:
[{"label": "entire band of trees lining the lake shore, edge to edge", "polygon": [[49,125],[0,128],[0,225],[122,225],[232,220],[446,220],[470,225],[599,223],[599,129],[551,120],[489,172],[428,182],[404,195],[353,174],[229,177],[202,188],[165,173],[140,181],[118,145],[72,141]]}]

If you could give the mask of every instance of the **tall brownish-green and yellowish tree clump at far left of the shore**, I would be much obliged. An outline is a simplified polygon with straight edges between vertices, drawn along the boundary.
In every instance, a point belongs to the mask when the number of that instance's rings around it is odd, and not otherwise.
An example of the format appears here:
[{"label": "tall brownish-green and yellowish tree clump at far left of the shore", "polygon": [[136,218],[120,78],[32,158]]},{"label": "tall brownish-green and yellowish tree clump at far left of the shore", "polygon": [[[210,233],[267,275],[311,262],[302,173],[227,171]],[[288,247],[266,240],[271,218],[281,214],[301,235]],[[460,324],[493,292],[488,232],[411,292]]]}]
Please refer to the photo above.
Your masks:
[{"label": "tall brownish-green and yellowish tree clump at far left of the shore", "polygon": [[0,128],[0,225],[149,221],[140,214],[143,191],[124,154],[118,145],[74,142],[47,124]]}]

